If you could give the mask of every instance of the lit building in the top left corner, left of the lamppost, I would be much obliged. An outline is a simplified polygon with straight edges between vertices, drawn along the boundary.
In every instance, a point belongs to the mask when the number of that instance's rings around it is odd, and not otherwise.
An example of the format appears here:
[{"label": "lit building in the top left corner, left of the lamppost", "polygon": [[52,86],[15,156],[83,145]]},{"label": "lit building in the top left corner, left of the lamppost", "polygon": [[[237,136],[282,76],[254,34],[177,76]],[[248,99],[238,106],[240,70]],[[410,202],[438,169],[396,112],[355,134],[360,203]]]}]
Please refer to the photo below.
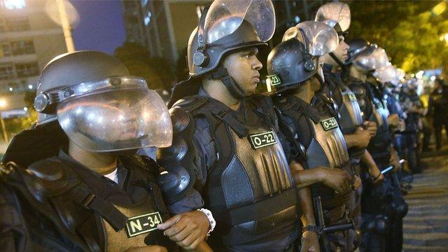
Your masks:
[{"label": "lit building in the top left corner, left of the lamppost", "polygon": [[0,0],[0,106],[4,117],[26,113],[40,71],[66,52],[62,28],[45,14],[46,1]]}]

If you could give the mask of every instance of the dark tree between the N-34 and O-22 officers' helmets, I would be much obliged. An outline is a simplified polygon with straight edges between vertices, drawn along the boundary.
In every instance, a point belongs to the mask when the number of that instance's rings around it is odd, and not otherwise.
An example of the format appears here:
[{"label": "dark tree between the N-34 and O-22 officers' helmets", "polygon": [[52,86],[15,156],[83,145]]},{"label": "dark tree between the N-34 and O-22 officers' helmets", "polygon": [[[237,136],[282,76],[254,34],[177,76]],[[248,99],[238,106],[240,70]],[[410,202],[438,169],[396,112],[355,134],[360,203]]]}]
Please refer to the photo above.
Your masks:
[{"label": "dark tree between the N-34 and O-22 officers' helmets", "polygon": [[132,75],[145,78],[151,89],[171,90],[174,76],[167,60],[151,57],[146,48],[129,42],[117,48],[114,55],[125,64]]}]

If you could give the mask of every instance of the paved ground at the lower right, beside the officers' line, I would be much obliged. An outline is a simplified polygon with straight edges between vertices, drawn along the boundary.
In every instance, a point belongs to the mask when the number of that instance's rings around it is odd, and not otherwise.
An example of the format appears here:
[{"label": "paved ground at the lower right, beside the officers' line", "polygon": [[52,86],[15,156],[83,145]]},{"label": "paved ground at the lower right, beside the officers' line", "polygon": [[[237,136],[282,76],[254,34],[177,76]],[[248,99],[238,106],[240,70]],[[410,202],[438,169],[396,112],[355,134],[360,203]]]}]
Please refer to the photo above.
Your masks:
[{"label": "paved ground at the lower right, beside the officers' line", "polygon": [[406,252],[448,251],[448,155],[425,158],[428,168],[414,176],[406,195]]}]

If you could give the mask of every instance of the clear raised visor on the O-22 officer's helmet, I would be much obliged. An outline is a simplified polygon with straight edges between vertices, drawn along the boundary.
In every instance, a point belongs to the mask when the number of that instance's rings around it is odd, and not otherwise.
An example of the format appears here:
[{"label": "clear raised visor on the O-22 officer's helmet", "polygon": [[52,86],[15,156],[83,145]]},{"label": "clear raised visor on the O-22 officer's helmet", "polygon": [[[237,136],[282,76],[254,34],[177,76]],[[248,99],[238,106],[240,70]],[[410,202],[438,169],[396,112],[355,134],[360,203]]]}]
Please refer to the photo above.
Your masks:
[{"label": "clear raised visor on the O-22 officer's helmet", "polygon": [[211,3],[204,23],[207,43],[235,32],[243,20],[251,23],[260,41],[272,38],[275,31],[274,6],[270,0],[216,0]]}]

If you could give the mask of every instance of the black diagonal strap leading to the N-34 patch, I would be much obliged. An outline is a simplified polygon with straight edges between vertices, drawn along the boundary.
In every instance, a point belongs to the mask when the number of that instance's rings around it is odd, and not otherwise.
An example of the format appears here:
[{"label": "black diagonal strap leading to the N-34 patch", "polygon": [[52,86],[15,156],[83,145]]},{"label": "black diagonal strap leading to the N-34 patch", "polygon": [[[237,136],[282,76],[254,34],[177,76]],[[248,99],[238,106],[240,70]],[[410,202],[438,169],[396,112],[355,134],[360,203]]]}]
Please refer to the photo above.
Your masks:
[{"label": "black diagonal strap leading to the N-34 patch", "polygon": [[92,193],[92,190],[87,186],[80,184],[73,188],[72,191],[73,200],[78,204],[81,204],[87,209],[96,211],[101,215],[117,232],[122,230],[126,226],[127,217],[120,212],[111,202],[103,200],[101,197],[97,197]]}]

